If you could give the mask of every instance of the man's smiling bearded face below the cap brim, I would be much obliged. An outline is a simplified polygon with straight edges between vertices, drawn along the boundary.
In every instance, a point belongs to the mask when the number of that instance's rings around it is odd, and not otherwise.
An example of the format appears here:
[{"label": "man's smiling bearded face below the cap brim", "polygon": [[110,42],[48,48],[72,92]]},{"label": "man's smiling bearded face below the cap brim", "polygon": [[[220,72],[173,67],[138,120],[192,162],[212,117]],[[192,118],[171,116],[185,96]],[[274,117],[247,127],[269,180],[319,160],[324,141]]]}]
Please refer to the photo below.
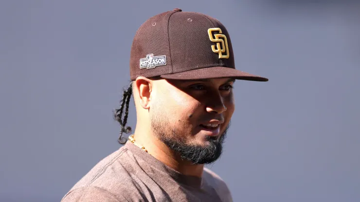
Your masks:
[{"label": "man's smiling bearded face below the cap brim", "polygon": [[153,133],[184,160],[218,159],[234,113],[232,79],[157,80],[153,83]]}]

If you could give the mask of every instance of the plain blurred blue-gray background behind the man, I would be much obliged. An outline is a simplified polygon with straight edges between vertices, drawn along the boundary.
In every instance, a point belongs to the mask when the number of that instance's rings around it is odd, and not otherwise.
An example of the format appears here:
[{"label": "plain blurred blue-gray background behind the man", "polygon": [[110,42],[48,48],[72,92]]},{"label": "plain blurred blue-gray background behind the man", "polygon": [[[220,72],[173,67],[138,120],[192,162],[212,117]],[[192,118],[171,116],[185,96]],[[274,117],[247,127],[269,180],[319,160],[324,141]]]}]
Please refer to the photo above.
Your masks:
[{"label": "plain blurred blue-gray background behind the man", "polygon": [[[360,3],[1,0],[0,201],[55,202],[117,150],[133,36],[179,7],[225,24],[238,81],[210,167],[235,202],[360,201]],[[131,103],[129,125],[135,126]]]}]

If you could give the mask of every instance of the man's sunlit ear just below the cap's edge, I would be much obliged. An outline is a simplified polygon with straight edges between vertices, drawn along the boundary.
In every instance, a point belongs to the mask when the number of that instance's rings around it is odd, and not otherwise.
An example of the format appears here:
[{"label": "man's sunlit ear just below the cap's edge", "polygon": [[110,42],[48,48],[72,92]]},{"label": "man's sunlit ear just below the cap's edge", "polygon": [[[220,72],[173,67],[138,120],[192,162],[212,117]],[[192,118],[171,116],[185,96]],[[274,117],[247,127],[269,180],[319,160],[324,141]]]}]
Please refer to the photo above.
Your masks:
[{"label": "man's sunlit ear just below the cap's edge", "polygon": [[150,94],[152,90],[152,81],[145,77],[138,77],[135,81],[135,89],[134,96],[136,96],[140,103],[140,106],[142,106],[144,109],[150,108]]}]

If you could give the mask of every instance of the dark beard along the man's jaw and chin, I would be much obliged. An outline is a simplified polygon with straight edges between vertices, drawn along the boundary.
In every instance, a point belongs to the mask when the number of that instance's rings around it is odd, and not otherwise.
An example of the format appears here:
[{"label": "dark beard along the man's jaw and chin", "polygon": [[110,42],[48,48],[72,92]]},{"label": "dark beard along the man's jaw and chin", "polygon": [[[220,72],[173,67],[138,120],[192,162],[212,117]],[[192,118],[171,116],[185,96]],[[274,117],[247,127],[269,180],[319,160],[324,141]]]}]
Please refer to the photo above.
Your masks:
[{"label": "dark beard along the man's jaw and chin", "polygon": [[181,159],[188,160],[193,164],[211,164],[221,156],[229,127],[230,122],[225,131],[220,134],[220,138],[206,136],[205,141],[207,144],[202,146],[188,143],[187,138],[184,138],[181,133],[177,132],[175,127],[172,127],[166,116],[154,115],[151,118],[151,128],[154,135],[172,151],[177,152]]}]

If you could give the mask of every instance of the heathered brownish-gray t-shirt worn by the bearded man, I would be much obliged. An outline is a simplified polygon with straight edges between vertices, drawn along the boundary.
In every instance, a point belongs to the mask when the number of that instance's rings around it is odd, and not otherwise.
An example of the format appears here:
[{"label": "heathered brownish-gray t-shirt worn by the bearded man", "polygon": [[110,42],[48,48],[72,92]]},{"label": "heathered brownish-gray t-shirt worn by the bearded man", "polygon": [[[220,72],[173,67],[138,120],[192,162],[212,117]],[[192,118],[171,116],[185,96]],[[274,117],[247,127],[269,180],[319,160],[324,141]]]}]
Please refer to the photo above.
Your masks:
[{"label": "heathered brownish-gray t-shirt worn by the bearded man", "polygon": [[183,175],[127,141],[61,202],[232,202],[232,197],[213,171],[204,168],[201,178]]}]

